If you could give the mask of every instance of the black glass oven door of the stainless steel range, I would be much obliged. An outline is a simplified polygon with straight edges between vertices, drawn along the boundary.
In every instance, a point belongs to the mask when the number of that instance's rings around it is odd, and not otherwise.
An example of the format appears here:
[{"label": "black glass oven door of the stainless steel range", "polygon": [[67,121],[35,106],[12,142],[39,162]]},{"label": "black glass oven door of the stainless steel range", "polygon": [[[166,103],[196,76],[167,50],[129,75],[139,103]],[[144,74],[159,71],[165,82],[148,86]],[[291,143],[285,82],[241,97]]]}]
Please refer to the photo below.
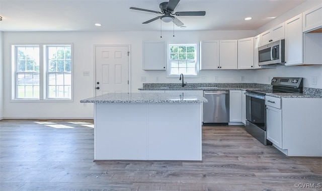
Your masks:
[{"label": "black glass oven door of the stainless steel range", "polygon": [[246,119],[266,131],[265,96],[245,93],[246,95]]}]

